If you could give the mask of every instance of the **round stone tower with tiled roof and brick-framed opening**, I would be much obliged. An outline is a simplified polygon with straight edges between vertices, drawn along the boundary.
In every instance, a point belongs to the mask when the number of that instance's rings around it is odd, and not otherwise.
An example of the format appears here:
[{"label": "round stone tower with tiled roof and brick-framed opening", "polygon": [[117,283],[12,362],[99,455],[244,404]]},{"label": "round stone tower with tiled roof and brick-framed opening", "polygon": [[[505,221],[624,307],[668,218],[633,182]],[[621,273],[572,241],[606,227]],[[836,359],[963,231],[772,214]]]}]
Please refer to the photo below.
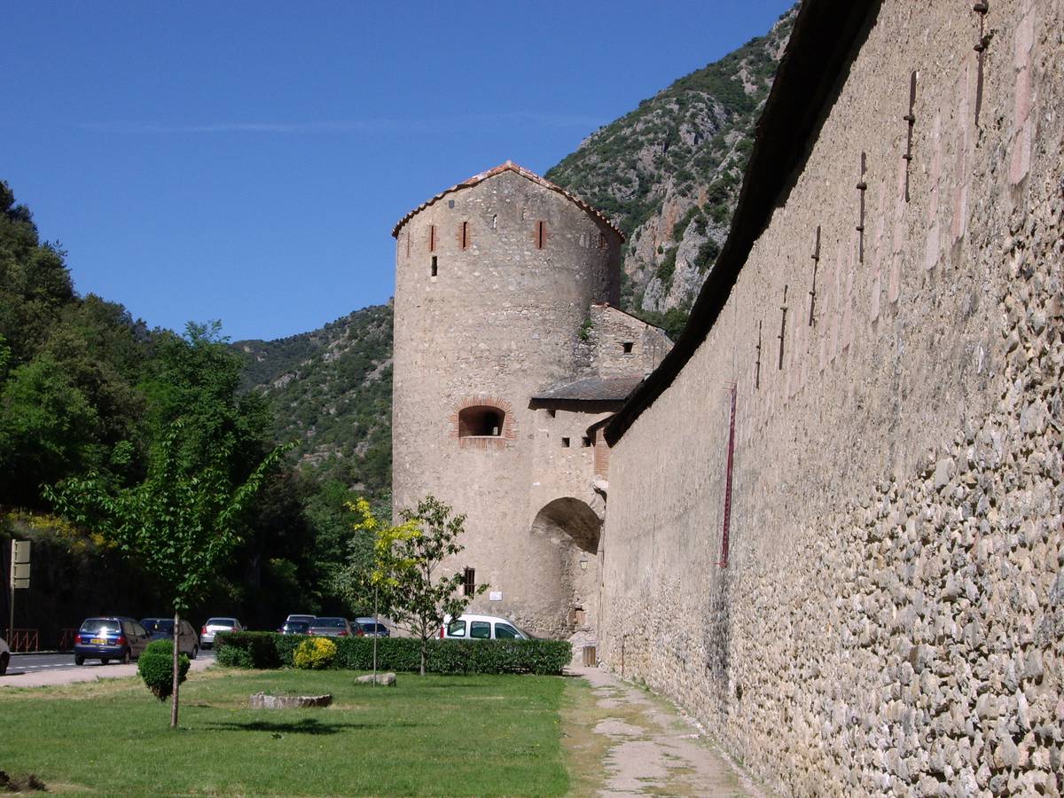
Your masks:
[{"label": "round stone tower with tiled roof and brick-framed opening", "polygon": [[436,195],[393,235],[395,508],[432,494],[465,514],[465,551],[445,570],[489,585],[477,611],[549,633],[529,405],[578,370],[591,304],[618,304],[624,237],[511,162]]}]

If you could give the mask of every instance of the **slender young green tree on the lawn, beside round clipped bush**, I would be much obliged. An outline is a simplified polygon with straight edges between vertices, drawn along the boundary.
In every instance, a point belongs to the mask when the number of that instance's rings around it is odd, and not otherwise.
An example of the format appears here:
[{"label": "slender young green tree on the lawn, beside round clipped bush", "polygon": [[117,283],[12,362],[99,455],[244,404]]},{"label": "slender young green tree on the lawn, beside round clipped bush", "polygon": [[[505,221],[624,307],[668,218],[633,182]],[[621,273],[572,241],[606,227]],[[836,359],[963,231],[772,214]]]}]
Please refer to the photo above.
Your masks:
[{"label": "slender young green tree on the lawn, beside round clipped bush", "polygon": [[215,448],[206,463],[180,455],[185,425],[178,420],[157,443],[138,485],[113,489],[97,476],[72,478],[46,495],[59,511],[113,541],[155,577],[173,603],[173,698],[178,726],[181,615],[202,596],[240,542],[238,515],[285,447],[277,447],[239,485],[230,481],[231,451]]}]

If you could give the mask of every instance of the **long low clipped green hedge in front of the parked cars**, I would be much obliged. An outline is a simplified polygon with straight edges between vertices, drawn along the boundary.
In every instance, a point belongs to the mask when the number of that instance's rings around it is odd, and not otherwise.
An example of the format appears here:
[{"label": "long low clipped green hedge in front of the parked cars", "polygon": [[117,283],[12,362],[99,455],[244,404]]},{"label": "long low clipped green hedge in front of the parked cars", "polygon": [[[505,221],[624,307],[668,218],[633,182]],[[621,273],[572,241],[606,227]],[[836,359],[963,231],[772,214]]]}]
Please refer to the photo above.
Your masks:
[{"label": "long low clipped green hedge in front of the parked cars", "polygon": [[[218,664],[246,668],[293,667],[293,653],[306,637],[277,632],[219,634]],[[336,667],[370,670],[372,637],[333,637]],[[429,641],[426,669],[432,674],[561,674],[572,659],[568,641]],[[421,642],[416,637],[378,637],[377,669],[417,671]]]}]

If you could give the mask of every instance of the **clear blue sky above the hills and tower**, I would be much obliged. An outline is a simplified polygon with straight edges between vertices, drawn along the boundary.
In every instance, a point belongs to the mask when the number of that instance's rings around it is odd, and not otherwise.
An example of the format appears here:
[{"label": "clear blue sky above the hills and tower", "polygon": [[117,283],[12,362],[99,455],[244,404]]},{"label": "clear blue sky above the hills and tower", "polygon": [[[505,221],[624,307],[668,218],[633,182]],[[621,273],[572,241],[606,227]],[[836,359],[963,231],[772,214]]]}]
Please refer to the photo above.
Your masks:
[{"label": "clear blue sky above the hills and tower", "polygon": [[82,294],[283,337],[387,301],[425,199],[546,171],[791,4],[19,3],[0,179]]}]

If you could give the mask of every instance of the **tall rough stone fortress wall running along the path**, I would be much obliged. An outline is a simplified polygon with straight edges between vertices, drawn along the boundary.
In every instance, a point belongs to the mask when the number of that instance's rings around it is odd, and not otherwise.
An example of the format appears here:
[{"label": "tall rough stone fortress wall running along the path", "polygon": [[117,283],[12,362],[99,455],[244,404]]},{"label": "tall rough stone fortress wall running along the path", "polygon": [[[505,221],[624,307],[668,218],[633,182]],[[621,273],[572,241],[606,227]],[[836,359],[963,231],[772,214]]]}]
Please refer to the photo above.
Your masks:
[{"label": "tall rough stone fortress wall running along the path", "polygon": [[610,452],[600,656],[784,794],[1064,792],[1064,2],[980,16],[882,3]]}]

